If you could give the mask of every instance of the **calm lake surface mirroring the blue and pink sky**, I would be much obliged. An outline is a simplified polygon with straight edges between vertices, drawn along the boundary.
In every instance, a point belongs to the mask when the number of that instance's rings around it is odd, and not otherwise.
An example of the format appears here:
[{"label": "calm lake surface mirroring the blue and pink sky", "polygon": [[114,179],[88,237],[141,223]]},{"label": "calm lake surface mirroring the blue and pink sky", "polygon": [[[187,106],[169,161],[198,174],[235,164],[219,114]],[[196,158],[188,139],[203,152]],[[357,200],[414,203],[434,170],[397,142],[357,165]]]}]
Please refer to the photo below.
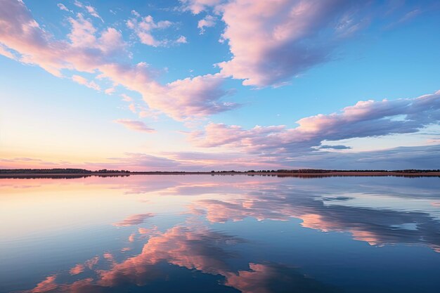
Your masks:
[{"label": "calm lake surface mirroring the blue and pink sky", "polygon": [[440,292],[440,179],[0,179],[0,292]]}]

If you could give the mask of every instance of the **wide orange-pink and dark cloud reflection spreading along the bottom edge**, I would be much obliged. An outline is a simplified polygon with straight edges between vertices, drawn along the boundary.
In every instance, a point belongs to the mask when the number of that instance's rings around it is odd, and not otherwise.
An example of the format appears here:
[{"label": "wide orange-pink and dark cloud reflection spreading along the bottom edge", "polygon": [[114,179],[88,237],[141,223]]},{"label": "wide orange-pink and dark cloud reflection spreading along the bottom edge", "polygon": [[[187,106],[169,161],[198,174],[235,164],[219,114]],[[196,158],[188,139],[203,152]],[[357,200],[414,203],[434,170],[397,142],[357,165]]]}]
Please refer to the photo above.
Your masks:
[{"label": "wide orange-pink and dark cloud reflection spreading along the bottom edge", "polygon": [[[96,269],[96,280],[84,278],[76,282],[56,283],[55,275],[40,282],[37,287],[27,292],[107,292],[112,287],[134,284],[148,285],[155,280],[167,280],[169,275],[161,271],[157,265],[167,262],[175,266],[197,270],[202,273],[221,275],[225,278],[224,285],[235,287],[242,292],[271,293],[278,292],[278,287],[307,288],[313,292],[332,292],[327,287],[295,269],[276,263],[250,263],[250,271],[235,273],[228,266],[227,259],[235,254],[226,249],[243,240],[237,237],[218,233],[201,226],[174,226],[164,233],[157,232],[143,246],[142,252],[130,256],[122,262],[115,262],[112,254],[103,254],[103,259],[112,262],[110,269]],[[124,252],[125,249],[122,249]],[[86,261],[82,268],[91,260]],[[93,258],[93,263],[98,257]],[[79,266],[79,265],[78,265]]]}]

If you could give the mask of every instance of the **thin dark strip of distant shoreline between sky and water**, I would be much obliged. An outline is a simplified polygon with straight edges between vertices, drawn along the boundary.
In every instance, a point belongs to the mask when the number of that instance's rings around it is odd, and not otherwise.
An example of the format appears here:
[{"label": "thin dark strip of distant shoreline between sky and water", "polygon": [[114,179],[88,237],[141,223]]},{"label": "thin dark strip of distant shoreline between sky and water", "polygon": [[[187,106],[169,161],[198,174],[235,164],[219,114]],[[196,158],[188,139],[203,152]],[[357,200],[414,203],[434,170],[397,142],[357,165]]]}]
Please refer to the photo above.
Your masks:
[{"label": "thin dark strip of distant shoreline between sky and water", "polygon": [[5,173],[0,178],[81,178],[89,176],[131,176],[131,175],[247,175],[247,176],[277,176],[277,177],[335,177],[335,176],[395,176],[395,177],[440,177],[440,172],[393,172],[393,171],[337,171],[322,173],[293,173],[293,172],[93,172],[93,173]]}]

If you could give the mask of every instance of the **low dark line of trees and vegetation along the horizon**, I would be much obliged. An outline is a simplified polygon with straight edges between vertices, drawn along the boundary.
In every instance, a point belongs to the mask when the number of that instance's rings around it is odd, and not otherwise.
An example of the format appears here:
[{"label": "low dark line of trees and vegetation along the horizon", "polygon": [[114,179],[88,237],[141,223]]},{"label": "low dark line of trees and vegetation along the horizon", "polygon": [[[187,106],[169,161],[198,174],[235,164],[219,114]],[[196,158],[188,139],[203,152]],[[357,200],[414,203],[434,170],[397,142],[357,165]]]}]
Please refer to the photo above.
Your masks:
[{"label": "low dark line of trees and vegetation along the horizon", "polygon": [[131,176],[131,175],[247,175],[277,177],[331,177],[331,176],[403,176],[403,177],[440,177],[440,169],[434,170],[328,170],[328,169],[278,169],[248,171],[96,171],[86,169],[0,169],[0,178],[81,178],[89,176]]}]

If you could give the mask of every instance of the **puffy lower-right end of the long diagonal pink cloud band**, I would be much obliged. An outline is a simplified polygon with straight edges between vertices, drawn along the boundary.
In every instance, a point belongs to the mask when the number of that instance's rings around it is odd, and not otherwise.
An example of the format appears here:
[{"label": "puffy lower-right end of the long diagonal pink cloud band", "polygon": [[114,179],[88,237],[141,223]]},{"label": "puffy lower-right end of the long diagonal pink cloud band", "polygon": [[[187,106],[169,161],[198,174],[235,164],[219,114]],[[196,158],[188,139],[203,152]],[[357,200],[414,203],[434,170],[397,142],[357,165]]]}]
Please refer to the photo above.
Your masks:
[{"label": "puffy lower-right end of the long diagonal pink cloud band", "polygon": [[161,110],[176,120],[202,118],[238,107],[235,103],[219,101],[231,93],[222,89],[224,77],[220,74],[188,77],[161,85],[154,81],[154,74],[146,63],[134,67],[108,64],[100,70],[101,77],[138,91],[149,108]]}]

